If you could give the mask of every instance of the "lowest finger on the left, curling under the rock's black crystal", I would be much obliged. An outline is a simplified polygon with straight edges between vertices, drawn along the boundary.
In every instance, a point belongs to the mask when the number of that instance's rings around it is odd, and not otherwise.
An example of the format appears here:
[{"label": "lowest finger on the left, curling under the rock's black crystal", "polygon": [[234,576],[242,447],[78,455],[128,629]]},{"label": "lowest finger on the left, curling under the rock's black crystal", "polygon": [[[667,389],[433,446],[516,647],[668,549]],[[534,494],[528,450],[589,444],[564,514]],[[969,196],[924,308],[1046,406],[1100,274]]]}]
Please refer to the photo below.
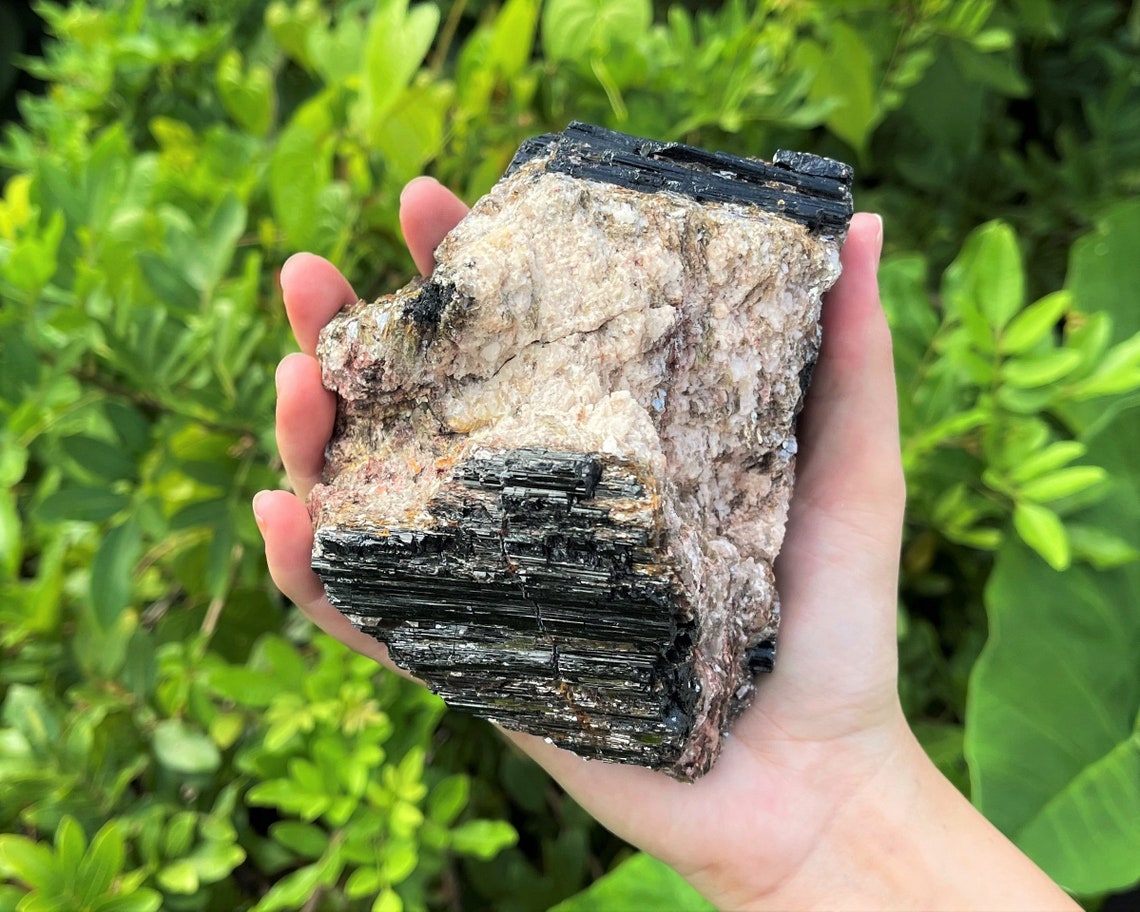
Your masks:
[{"label": "lowest finger on the left, curling under the rock's black crystal", "polygon": [[309,563],[312,524],[304,504],[286,491],[261,491],[253,498],[253,515],[266,540],[269,575],[285,597],[329,636],[386,665],[384,645],[353,627],[325,597],[325,587]]}]

